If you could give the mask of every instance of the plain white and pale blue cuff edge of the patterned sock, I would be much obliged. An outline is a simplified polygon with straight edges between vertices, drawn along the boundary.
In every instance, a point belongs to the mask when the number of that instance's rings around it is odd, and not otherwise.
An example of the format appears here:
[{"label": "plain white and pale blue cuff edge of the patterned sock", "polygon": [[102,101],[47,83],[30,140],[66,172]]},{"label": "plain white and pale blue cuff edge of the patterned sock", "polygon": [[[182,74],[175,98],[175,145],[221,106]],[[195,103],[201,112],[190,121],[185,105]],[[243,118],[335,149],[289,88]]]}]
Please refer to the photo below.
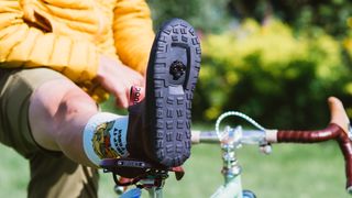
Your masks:
[{"label": "plain white and pale blue cuff edge of the patterned sock", "polygon": [[[95,134],[96,131],[98,130],[97,128],[103,123],[108,123],[111,122],[113,120],[120,120],[119,118],[121,118],[122,120],[128,120],[128,117],[123,117],[123,116],[118,116],[118,114],[113,114],[113,113],[109,113],[109,112],[99,112],[95,116],[92,116],[85,129],[84,129],[84,133],[82,133],[82,144],[84,144],[84,150],[85,153],[87,155],[87,157],[97,166],[100,165],[100,161],[101,158],[98,156],[97,152],[95,151],[95,143],[97,144],[97,141],[94,141],[95,139]],[[128,128],[125,125],[125,128]],[[103,139],[102,139],[103,140]]]}]

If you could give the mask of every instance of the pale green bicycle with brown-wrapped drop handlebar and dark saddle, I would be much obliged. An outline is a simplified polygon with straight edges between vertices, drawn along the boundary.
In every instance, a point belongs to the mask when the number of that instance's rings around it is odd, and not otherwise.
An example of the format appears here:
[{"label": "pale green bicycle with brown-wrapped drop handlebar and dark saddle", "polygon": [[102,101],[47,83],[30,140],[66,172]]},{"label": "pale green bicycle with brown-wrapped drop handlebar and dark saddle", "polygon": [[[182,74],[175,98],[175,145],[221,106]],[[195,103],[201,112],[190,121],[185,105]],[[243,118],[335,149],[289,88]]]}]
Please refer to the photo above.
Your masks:
[{"label": "pale green bicycle with brown-wrapped drop handlebar and dark saddle", "polygon": [[[331,120],[328,127],[323,130],[316,131],[286,131],[286,130],[267,130],[252,120],[250,117],[230,111],[221,114],[216,123],[215,131],[199,132],[193,131],[193,143],[218,143],[222,151],[222,175],[224,184],[221,185],[212,198],[254,198],[255,195],[250,190],[242,189],[241,183],[241,166],[239,165],[235,150],[245,144],[257,144],[262,151],[270,154],[272,151],[271,144],[274,143],[317,143],[329,140],[336,140],[341,148],[345,161],[346,191],[352,195],[352,130],[348,116],[342,103],[334,99],[329,99]],[[226,127],[220,131],[220,123],[223,119],[235,116],[240,117],[251,124],[255,130],[244,130],[241,125],[235,128]],[[162,198],[163,186],[168,177],[169,172],[176,173],[176,178],[183,177],[183,169],[165,168],[153,165],[147,162],[142,162],[132,158],[105,160],[101,166],[106,173],[112,173],[117,184],[117,189],[120,193],[125,190],[125,186],[135,185],[136,188],[124,193],[121,197],[140,197],[141,189],[146,189],[150,197]],[[128,175],[127,175],[128,173]],[[129,177],[118,178],[117,175]]]}]

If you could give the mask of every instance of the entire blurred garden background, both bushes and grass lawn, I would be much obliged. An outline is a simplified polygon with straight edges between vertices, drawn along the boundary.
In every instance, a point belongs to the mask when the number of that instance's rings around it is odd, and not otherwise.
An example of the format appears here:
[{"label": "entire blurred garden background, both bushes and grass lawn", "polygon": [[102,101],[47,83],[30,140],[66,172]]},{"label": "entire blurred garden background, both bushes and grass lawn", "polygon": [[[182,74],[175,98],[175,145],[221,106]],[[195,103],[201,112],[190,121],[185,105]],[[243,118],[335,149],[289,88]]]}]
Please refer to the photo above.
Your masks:
[{"label": "entire blurred garden background, both bushes and grass lawn", "polygon": [[[195,129],[212,129],[228,110],[265,128],[317,129],[329,121],[327,98],[352,117],[352,2],[349,0],[150,0],[155,30],[182,18],[201,37],[202,64],[193,106]],[[105,110],[113,111],[105,103]],[[229,123],[240,122],[230,119]],[[0,145],[0,197],[26,197],[26,161]],[[239,152],[243,186],[258,198],[343,198],[344,164],[337,144],[255,146]],[[218,145],[197,145],[186,176],[165,197],[209,197],[222,184]],[[101,174],[100,197],[117,197]]]}]

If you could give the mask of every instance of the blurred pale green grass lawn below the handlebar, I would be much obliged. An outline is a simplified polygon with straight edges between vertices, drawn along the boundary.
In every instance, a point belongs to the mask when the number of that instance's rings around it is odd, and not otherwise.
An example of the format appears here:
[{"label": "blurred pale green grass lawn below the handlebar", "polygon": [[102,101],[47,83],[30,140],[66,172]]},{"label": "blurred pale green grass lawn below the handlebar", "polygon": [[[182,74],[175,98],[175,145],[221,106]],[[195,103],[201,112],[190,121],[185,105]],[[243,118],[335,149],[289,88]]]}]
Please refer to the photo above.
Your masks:
[{"label": "blurred pale green grass lawn below the handlebar", "polygon": [[[11,148],[0,145],[0,197],[26,197],[29,167]],[[343,198],[345,178],[342,156],[334,143],[274,145],[272,155],[255,146],[239,150],[243,186],[258,198]],[[176,182],[170,174],[165,197],[209,197],[222,183],[220,150],[196,145],[185,164],[186,175]],[[117,197],[110,175],[101,174],[99,197]]]}]

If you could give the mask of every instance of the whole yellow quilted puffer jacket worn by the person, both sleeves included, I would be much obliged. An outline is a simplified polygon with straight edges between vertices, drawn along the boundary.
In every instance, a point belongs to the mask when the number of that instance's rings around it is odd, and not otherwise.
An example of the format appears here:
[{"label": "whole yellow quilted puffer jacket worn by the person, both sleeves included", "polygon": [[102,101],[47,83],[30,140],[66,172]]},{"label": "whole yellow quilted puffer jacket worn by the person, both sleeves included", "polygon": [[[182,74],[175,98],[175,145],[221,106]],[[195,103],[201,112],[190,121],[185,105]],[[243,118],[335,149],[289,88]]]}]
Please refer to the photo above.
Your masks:
[{"label": "whole yellow quilted puffer jacket worn by the person, both sleeves included", "polygon": [[144,0],[0,0],[0,67],[51,67],[97,100],[100,54],[143,73],[153,38]]}]

